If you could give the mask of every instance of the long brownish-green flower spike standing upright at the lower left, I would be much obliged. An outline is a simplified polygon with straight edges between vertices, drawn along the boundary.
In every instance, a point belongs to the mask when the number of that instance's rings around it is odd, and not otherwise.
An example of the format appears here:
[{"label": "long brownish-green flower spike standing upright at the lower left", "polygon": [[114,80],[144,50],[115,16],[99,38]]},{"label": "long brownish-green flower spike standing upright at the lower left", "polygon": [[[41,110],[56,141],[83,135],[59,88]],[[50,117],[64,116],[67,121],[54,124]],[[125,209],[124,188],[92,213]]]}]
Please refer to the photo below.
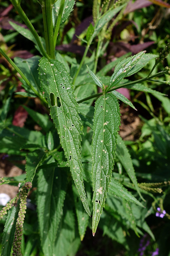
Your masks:
[{"label": "long brownish-green flower spike standing upright at the lower left", "polygon": [[21,254],[21,239],[23,234],[23,222],[26,213],[26,201],[27,201],[27,190],[32,188],[31,182],[26,182],[20,190],[20,210],[18,212],[18,218],[16,222],[16,231],[14,234],[13,242],[13,253],[12,256],[22,256]]}]

